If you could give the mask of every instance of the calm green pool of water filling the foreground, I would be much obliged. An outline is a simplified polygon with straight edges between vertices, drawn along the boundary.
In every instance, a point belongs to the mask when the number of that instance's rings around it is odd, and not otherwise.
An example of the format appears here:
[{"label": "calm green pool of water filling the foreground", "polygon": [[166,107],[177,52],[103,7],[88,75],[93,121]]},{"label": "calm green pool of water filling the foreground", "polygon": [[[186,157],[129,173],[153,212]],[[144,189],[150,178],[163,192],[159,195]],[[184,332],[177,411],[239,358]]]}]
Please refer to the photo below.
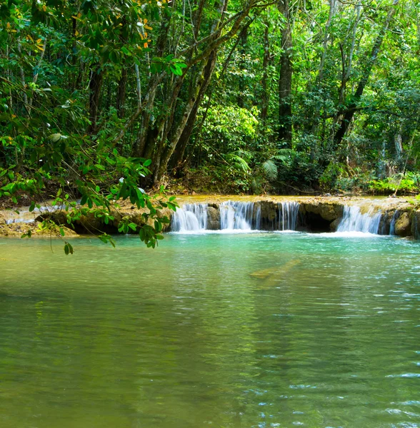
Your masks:
[{"label": "calm green pool of water filling the foreground", "polygon": [[420,427],[420,243],[72,242],[0,240],[1,428]]}]

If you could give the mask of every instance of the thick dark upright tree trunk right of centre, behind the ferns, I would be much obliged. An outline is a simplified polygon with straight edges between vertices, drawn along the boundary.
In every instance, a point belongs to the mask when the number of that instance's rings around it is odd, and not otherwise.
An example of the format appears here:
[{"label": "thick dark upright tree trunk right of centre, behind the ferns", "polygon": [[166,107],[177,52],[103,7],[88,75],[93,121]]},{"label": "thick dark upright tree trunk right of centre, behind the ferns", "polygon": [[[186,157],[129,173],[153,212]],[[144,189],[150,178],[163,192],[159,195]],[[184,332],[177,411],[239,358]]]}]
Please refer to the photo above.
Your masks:
[{"label": "thick dark upright tree trunk right of centre, behind the ferns", "polygon": [[279,0],[278,8],[284,16],[281,29],[281,56],[279,75],[279,126],[277,138],[279,143],[291,148],[291,76],[292,76],[292,46],[291,26],[289,16],[289,0]]}]

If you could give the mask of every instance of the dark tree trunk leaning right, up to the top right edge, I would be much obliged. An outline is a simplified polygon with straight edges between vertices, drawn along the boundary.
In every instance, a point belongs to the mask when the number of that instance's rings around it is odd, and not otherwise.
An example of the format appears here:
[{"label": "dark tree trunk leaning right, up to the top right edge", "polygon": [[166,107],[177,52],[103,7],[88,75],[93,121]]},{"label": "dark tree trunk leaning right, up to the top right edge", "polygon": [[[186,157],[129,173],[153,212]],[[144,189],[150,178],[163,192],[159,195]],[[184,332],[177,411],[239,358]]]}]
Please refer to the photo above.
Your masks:
[{"label": "dark tree trunk leaning right, up to the top right edge", "polygon": [[384,26],[382,26],[381,31],[376,37],[374,46],[372,47],[371,55],[366,65],[364,66],[364,70],[361,76],[361,80],[359,81],[359,85],[357,86],[356,92],[354,93],[354,96],[352,97],[351,102],[347,106],[346,112],[344,113],[343,118],[341,119],[340,126],[336,131],[336,134],[334,135],[335,149],[341,144],[341,141],[343,140],[344,136],[346,135],[346,131],[349,128],[351,120],[353,119],[353,116],[358,106],[358,103],[360,101],[360,98],[363,95],[364,88],[369,81],[369,76],[371,75],[372,68],[376,63],[376,58],[378,57],[382,42],[384,41],[386,31],[388,30],[389,24],[391,24],[391,21],[394,17],[394,14],[396,11],[396,5],[398,3],[399,3],[399,0],[393,1],[391,9],[389,9],[388,14],[386,15]]}]

